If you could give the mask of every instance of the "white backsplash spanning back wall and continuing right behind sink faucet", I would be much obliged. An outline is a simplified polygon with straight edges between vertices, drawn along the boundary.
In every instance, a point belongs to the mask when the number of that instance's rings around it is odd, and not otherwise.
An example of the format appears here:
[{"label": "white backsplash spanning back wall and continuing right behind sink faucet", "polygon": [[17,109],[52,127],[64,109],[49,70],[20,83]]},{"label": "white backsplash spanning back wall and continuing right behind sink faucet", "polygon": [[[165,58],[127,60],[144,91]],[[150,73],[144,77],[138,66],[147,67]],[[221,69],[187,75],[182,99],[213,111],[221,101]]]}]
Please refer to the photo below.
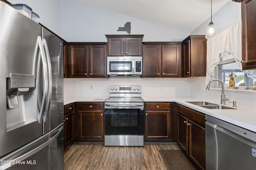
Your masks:
[{"label": "white backsplash spanning back wall and continuing right behind sink faucet", "polygon": [[[142,96],[147,97],[197,97],[220,103],[221,90],[206,90],[205,77],[199,78],[64,78],[64,98],[107,97],[109,86],[140,85]],[[256,91],[225,90],[230,102],[256,109]]]}]

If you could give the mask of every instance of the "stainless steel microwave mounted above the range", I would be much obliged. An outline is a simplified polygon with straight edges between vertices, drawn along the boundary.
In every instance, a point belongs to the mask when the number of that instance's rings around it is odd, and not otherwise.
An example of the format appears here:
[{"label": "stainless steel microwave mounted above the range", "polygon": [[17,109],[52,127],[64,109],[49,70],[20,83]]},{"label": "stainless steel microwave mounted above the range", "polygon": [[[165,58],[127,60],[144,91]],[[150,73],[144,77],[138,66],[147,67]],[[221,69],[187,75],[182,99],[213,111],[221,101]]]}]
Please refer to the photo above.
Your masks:
[{"label": "stainless steel microwave mounted above the range", "polygon": [[108,76],[141,76],[142,57],[107,57]]}]

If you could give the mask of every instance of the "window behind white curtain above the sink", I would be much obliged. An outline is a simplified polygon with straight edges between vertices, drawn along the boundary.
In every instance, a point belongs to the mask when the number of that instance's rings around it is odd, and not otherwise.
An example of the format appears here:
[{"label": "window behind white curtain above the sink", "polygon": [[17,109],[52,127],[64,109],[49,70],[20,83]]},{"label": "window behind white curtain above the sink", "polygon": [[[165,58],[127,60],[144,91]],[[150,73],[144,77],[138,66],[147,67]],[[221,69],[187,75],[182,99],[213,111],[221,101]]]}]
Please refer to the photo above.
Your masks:
[{"label": "window behind white curtain above the sink", "polygon": [[[238,87],[240,83],[246,83],[247,87],[253,87],[253,83],[256,81],[256,78],[252,79],[240,70],[239,63],[235,62],[233,55],[222,57],[220,59],[220,63],[215,67],[215,78],[222,80],[222,82],[228,87],[228,82],[230,80],[229,75],[231,72],[235,75],[235,87]],[[218,82],[217,86],[221,86],[220,82]]]}]

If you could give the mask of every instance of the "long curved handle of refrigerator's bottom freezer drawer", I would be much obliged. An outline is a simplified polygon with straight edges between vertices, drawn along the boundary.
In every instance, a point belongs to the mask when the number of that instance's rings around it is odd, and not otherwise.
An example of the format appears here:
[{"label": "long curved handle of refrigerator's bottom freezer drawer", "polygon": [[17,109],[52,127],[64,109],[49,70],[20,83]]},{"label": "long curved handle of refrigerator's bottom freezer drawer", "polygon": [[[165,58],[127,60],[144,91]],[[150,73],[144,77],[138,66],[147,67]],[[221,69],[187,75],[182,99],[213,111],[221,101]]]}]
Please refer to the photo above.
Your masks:
[{"label": "long curved handle of refrigerator's bottom freezer drawer", "polygon": [[[48,146],[50,143],[52,143],[52,141],[54,141],[54,140],[60,135],[60,133],[62,132],[62,129],[63,129],[63,125],[62,125],[61,127],[57,127],[57,128],[60,128],[60,129],[59,129],[58,132],[57,132],[53,137],[51,137],[48,141],[42,143],[42,145],[40,145],[40,146],[38,146],[38,147],[36,147],[36,148],[34,148],[34,149],[32,149],[32,150],[26,152],[26,153],[23,154],[23,155],[18,156],[17,158],[11,158],[10,161],[6,160],[6,162],[10,162],[10,163],[0,165],[0,170],[5,170],[5,169],[9,168],[10,166],[15,165],[16,162],[21,162],[22,160],[24,160],[24,159],[30,157],[31,155],[35,154],[36,152],[38,152],[38,151],[44,149],[46,146]],[[56,128],[56,129],[57,129],[57,128]],[[54,130],[55,130],[55,129],[54,129]],[[54,131],[54,130],[53,130],[53,131]],[[47,135],[48,135],[48,134],[47,134]]]}]

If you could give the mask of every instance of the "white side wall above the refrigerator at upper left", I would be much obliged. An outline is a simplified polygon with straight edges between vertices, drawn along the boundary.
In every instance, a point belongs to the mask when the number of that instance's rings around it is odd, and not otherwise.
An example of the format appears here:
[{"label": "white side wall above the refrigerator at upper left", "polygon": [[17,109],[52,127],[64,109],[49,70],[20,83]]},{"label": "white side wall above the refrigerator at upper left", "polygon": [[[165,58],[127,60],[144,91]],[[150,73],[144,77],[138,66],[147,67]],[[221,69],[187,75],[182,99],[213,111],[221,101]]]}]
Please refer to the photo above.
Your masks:
[{"label": "white side wall above the refrigerator at upper left", "polygon": [[40,17],[38,21],[60,36],[60,0],[8,0],[26,4]]}]

